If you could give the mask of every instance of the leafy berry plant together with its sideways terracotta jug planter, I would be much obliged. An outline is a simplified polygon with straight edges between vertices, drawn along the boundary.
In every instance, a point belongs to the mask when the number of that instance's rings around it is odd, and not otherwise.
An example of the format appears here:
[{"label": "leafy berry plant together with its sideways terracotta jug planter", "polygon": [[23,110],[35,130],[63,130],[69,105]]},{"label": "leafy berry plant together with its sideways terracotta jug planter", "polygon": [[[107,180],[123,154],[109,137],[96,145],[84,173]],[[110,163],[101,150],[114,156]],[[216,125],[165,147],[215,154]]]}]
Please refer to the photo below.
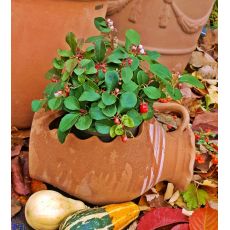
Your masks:
[{"label": "leafy berry plant together with its sideways terracotta jug planter", "polygon": [[[180,83],[202,83],[172,75],[135,30],[127,30],[122,46],[110,19],[94,22],[101,35],[89,37],[85,49],[68,33],[70,49],[58,49],[44,98],[32,102],[31,177],[97,204],[131,200],[164,179],[183,189],[195,157],[189,115],[179,104],[156,101],[181,99]],[[180,128],[165,133],[154,108],[180,113]]]}]

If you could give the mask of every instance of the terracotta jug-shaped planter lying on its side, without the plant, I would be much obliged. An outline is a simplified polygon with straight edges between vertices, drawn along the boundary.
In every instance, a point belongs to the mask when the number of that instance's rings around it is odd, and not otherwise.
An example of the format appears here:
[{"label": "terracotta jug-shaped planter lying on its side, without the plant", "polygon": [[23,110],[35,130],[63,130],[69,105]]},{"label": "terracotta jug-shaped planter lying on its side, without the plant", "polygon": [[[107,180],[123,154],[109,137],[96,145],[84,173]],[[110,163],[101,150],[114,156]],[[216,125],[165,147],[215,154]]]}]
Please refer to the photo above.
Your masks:
[{"label": "terracotta jug-shaped planter lying on its side, without the plant", "polygon": [[152,119],[143,122],[138,135],[126,143],[119,137],[109,143],[95,136],[80,140],[70,133],[60,144],[57,129],[49,129],[60,114],[36,113],[30,136],[30,176],[92,204],[132,200],[163,180],[183,190],[192,179],[195,159],[188,112],[174,103],[154,107],[180,113],[181,126],[166,133]]}]

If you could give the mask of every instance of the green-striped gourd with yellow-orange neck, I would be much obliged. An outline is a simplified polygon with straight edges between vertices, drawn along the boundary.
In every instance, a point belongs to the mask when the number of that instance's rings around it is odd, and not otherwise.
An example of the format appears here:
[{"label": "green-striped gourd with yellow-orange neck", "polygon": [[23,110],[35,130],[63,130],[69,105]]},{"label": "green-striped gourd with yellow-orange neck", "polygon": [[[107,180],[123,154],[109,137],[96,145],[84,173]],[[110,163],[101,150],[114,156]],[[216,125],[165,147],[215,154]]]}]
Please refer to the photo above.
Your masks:
[{"label": "green-striped gourd with yellow-orange neck", "polygon": [[80,210],[67,217],[59,230],[121,230],[134,221],[139,213],[138,205],[133,202]]}]

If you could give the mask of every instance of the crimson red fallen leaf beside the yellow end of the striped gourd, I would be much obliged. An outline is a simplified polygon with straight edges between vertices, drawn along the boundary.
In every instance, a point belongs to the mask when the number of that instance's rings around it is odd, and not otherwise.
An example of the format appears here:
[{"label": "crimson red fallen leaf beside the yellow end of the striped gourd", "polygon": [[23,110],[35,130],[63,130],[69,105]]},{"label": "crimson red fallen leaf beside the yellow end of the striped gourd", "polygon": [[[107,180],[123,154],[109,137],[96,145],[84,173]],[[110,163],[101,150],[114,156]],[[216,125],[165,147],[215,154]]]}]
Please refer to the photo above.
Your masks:
[{"label": "crimson red fallen leaf beside the yellow end of the striped gourd", "polygon": [[187,222],[187,216],[182,214],[182,210],[179,208],[156,208],[140,219],[137,230],[154,230],[171,224]]}]

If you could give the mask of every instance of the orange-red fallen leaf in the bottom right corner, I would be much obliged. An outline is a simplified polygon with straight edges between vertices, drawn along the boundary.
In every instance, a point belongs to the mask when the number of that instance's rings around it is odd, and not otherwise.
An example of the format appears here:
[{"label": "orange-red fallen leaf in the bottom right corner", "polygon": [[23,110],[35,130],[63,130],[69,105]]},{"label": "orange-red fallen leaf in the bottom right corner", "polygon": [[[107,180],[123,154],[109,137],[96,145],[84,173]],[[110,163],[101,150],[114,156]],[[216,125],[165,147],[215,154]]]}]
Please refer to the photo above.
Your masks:
[{"label": "orange-red fallen leaf in the bottom right corner", "polygon": [[197,209],[189,218],[190,230],[217,230],[218,212],[215,209],[206,206]]}]

